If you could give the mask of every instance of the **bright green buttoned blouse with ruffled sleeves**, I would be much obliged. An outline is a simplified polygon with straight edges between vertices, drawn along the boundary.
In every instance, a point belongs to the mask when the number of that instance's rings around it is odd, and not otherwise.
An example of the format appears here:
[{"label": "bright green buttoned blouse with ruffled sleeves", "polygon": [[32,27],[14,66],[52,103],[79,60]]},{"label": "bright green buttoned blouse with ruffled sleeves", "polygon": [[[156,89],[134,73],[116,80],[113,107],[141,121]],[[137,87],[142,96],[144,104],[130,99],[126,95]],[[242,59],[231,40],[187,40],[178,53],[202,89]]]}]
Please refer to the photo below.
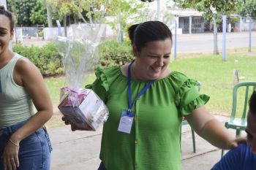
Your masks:
[{"label": "bright green buttoned blouse with ruffled sleeves", "polygon": [[[107,170],[181,169],[181,120],[201,107],[196,81],[179,72],[156,80],[135,102],[131,134],[117,131],[121,111],[128,109],[127,77],[119,67],[97,69],[92,88],[105,101],[110,116],[103,127],[100,159]],[[132,80],[132,101],[149,81]]]}]

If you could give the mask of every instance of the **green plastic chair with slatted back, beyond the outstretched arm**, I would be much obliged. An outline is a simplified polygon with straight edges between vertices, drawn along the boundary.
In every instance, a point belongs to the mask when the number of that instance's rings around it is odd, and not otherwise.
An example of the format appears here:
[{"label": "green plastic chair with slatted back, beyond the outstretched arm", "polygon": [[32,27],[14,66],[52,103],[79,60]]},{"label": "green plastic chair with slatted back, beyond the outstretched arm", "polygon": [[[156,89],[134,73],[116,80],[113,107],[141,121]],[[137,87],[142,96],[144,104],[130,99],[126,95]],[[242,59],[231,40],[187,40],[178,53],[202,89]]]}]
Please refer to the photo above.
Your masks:
[{"label": "green plastic chair with slatted back, beyond the outstretched arm", "polygon": [[[236,130],[236,137],[241,136],[241,131],[244,131],[247,125],[246,115],[247,115],[247,104],[249,101],[250,90],[256,89],[256,82],[239,82],[233,88],[233,104],[232,104],[232,112],[230,116],[230,120],[225,123],[226,128],[233,128]],[[245,90],[244,96],[244,107],[241,117],[237,116],[237,103],[238,103],[238,90],[239,92]],[[222,150],[222,156],[224,154],[224,150]]]}]

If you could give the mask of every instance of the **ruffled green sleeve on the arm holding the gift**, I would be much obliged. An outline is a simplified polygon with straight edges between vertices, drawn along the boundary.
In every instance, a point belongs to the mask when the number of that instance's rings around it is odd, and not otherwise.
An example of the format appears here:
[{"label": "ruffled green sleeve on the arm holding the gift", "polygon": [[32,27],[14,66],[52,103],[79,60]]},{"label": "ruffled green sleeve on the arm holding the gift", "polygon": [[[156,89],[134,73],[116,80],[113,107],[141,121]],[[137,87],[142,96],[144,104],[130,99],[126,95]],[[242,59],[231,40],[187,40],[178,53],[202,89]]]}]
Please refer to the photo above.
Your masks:
[{"label": "ruffled green sleeve on the arm holding the gift", "polygon": [[94,90],[99,98],[106,102],[110,85],[118,76],[118,69],[118,67],[111,67],[110,69],[103,70],[98,67],[95,71],[96,80],[92,84],[86,85],[85,88]]}]

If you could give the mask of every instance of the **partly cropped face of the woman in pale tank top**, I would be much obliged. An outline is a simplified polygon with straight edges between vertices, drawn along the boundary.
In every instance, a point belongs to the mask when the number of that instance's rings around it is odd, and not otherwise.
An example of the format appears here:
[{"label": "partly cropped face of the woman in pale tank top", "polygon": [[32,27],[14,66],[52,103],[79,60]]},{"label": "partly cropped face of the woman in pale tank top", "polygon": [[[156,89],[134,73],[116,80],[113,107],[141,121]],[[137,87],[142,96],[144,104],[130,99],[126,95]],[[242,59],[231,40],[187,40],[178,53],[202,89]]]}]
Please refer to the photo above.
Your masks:
[{"label": "partly cropped face of the woman in pale tank top", "polygon": [[0,15],[0,56],[9,50],[10,39],[13,32],[10,31],[10,20],[5,15]]}]

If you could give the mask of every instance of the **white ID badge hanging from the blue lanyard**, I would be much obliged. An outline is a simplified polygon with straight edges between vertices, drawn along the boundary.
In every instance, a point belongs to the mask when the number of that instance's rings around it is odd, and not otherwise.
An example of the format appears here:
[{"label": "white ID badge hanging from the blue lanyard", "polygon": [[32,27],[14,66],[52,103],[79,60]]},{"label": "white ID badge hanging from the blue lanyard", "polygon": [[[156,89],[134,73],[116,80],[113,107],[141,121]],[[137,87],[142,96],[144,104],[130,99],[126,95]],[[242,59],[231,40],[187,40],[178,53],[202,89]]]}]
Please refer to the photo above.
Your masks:
[{"label": "white ID badge hanging from the blue lanyard", "polygon": [[122,111],[117,131],[130,134],[134,117],[135,115],[132,112]]}]

